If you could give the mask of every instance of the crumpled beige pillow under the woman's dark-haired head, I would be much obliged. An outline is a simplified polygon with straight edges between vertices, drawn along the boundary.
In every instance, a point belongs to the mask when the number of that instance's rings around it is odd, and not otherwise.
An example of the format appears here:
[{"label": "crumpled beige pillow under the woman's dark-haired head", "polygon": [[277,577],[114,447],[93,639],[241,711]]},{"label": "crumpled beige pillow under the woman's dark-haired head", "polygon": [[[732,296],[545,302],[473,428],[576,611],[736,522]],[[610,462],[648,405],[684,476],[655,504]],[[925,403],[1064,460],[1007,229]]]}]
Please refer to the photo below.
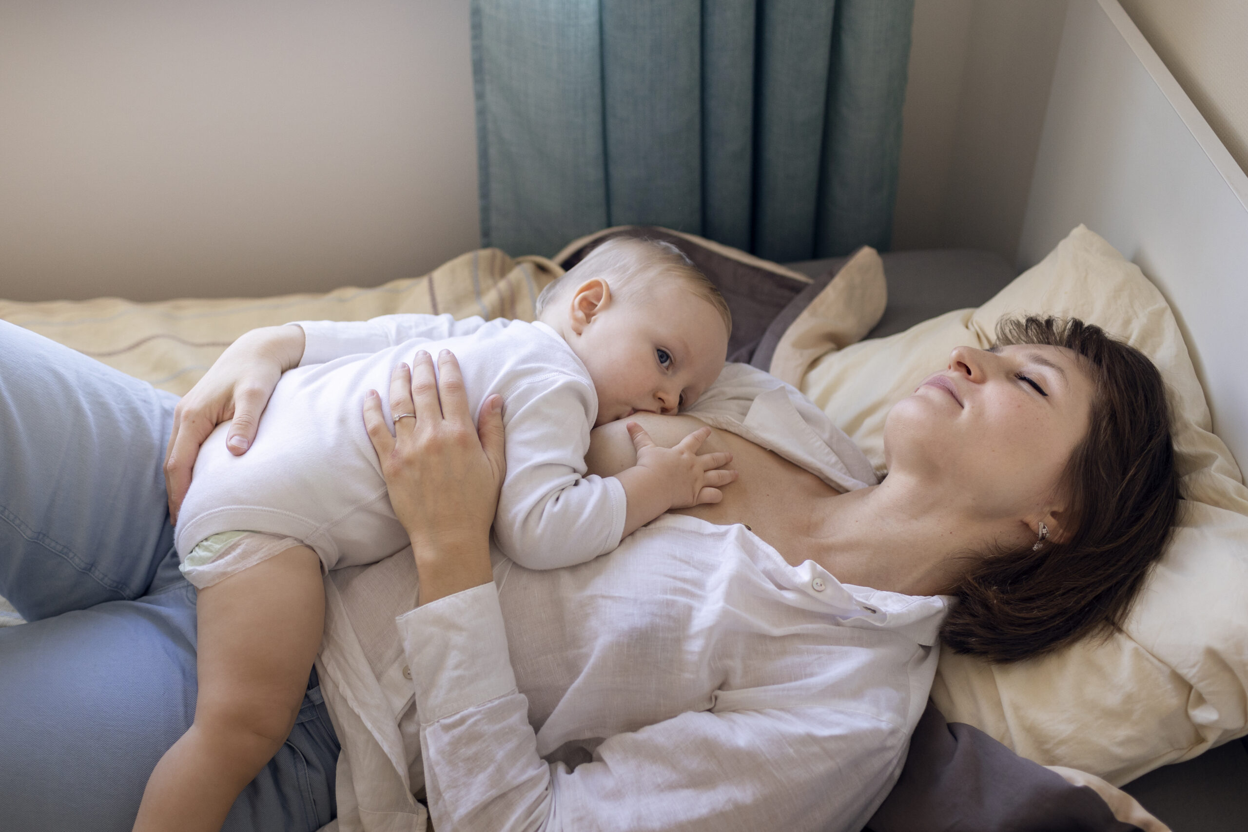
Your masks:
[{"label": "crumpled beige pillow under the woman's dark-haired head", "polygon": [[1248,489],[1209,410],[1174,316],[1138,267],[1080,226],[978,309],[816,360],[801,389],[884,470],[892,404],[948,360],[987,347],[1008,314],[1078,317],[1148,354],[1173,393],[1187,500],[1174,541],[1124,631],[1013,665],[945,651],[932,699],[1047,766],[1127,782],[1248,732]]}]

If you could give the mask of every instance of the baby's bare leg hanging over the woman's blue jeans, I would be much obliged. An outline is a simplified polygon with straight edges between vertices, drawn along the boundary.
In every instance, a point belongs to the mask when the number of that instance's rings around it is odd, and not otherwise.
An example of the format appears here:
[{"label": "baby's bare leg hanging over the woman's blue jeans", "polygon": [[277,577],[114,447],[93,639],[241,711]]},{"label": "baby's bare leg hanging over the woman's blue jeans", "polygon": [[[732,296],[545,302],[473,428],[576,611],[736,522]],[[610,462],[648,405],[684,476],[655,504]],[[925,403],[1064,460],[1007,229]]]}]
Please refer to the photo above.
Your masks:
[{"label": "baby's bare leg hanging over the woman's blue jeans", "polygon": [[135,832],[216,832],[295,726],[321,646],[321,560],[295,546],[198,590],[195,722],[147,780]]}]

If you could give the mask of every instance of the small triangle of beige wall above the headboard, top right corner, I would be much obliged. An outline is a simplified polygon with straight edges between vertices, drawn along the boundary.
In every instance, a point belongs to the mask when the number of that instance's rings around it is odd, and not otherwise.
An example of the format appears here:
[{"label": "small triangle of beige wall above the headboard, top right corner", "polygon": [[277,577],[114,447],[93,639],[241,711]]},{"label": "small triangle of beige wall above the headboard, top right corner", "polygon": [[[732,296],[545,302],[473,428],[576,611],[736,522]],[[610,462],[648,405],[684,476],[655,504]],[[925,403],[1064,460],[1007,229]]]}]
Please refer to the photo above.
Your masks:
[{"label": "small triangle of beige wall above the headboard, top right corner", "polygon": [[1248,2],[1122,0],[1122,7],[1248,171]]}]

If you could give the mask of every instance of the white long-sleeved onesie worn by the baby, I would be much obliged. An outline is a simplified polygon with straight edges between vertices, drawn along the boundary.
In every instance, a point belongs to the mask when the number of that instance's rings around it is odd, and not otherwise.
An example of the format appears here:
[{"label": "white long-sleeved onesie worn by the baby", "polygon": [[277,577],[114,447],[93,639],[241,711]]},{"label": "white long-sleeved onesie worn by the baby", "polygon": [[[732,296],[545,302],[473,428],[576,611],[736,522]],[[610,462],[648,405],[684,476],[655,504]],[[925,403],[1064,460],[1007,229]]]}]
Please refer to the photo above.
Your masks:
[{"label": "white long-sleeved onesie worn by the baby", "polygon": [[192,584],[207,586],[250,565],[202,563],[202,553],[187,561],[196,544],[223,531],[301,540],[326,570],[376,563],[408,545],[364,429],[363,402],[368,390],[381,393],[393,428],[391,373],[419,349],[456,354],[474,418],[488,395],[503,397],[507,478],[494,519],[503,551],[529,569],[554,569],[619,545],[624,486],[585,474],[598,398],[567,342],[543,323],[403,317],[406,332],[424,337],[285,373],[242,457],[226,449],[227,423],[208,437],[175,535]]}]

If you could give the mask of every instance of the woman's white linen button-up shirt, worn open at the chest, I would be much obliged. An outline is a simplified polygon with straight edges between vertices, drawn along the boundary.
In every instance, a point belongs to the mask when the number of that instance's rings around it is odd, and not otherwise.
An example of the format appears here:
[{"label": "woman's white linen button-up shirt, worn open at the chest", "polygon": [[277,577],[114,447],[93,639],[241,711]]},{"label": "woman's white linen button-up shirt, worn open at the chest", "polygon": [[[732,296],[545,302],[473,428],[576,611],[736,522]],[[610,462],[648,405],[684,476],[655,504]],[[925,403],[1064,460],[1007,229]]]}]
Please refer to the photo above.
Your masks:
[{"label": "woman's white linen button-up shirt, worn open at the chest", "polygon": [[[334,329],[306,327],[305,360]],[[716,387],[690,413],[837,488],[875,481],[791,387],[731,364]],[[896,781],[947,599],[842,585],[683,515],[567,569],[492,559],[493,584],[417,609],[409,551],[326,578],[327,830],[423,832],[422,788],[438,832],[857,830]]]}]

